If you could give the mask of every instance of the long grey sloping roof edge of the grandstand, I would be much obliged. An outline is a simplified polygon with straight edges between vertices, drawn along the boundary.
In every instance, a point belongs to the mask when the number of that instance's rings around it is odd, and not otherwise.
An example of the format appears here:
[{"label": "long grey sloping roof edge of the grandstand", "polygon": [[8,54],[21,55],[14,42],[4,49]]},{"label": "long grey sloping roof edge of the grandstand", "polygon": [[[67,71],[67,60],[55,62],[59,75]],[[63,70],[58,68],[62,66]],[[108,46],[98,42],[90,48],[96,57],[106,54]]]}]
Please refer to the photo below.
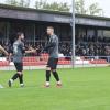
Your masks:
[{"label": "long grey sloping roof edge of the grandstand", "polygon": [[[8,4],[0,4],[0,18],[32,21],[46,21],[55,23],[72,23],[70,12],[37,10]],[[76,14],[76,24],[110,28],[110,18]]]}]

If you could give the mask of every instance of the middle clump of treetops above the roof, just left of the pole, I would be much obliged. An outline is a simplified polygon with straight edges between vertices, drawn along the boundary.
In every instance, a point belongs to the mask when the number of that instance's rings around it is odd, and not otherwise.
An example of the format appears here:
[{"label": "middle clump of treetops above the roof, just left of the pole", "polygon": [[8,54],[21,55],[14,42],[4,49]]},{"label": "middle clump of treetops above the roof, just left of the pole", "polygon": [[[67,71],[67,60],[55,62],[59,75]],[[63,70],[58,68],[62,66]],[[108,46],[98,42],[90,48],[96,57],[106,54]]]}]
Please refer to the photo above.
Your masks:
[{"label": "middle clump of treetops above the roof, just left of the pole", "polygon": [[58,2],[52,2],[48,3],[46,1],[36,1],[35,2],[35,8],[36,9],[46,9],[46,10],[56,10],[56,11],[70,11],[70,7],[64,2],[64,3],[58,3]]}]

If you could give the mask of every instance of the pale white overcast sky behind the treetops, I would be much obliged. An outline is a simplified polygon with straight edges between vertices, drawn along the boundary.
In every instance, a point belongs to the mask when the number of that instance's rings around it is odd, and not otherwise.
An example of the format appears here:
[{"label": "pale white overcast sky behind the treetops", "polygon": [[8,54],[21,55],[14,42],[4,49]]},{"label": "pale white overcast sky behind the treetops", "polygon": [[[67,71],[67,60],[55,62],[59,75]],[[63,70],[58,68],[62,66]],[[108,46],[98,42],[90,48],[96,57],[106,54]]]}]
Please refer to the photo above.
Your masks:
[{"label": "pale white overcast sky behind the treetops", "polygon": [[[0,0],[0,2],[4,2],[6,0]],[[19,1],[19,0],[18,0]],[[31,0],[31,7],[35,6],[35,1],[36,0]],[[68,2],[69,4],[72,4],[73,0],[46,0],[48,2],[53,2],[53,1],[57,1],[57,2]],[[106,16],[110,16],[110,0],[85,0],[86,2],[86,7],[91,4],[92,2],[98,2],[99,7],[103,9],[105,15]]]}]

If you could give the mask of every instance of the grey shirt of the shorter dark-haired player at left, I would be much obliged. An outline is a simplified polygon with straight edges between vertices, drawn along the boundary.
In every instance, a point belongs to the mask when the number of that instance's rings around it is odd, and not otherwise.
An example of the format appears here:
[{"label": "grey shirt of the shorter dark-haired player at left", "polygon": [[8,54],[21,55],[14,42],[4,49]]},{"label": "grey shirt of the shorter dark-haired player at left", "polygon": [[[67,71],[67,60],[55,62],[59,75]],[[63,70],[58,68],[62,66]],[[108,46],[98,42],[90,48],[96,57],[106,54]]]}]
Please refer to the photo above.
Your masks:
[{"label": "grey shirt of the shorter dark-haired player at left", "polygon": [[24,43],[18,40],[13,43],[13,62],[22,63],[23,54],[24,54]]}]

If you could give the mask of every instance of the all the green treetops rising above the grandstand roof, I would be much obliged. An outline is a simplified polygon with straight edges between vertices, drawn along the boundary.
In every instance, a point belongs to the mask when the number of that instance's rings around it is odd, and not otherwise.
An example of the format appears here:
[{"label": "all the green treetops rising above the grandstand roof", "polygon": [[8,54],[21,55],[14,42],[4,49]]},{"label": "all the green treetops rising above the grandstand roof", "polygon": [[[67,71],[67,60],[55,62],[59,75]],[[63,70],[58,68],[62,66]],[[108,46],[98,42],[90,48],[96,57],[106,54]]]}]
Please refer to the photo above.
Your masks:
[{"label": "all the green treetops rising above the grandstand roof", "polygon": [[[30,0],[6,0],[7,4],[16,6],[16,7],[25,7],[29,8],[31,1]],[[36,9],[44,10],[53,10],[53,11],[70,11],[70,6],[67,2],[47,2],[46,0],[36,0],[35,1]],[[90,14],[90,15],[103,15],[103,10],[99,7],[97,2],[90,4],[88,8],[85,7],[85,0],[76,0],[75,2],[75,11],[79,14]]]}]

